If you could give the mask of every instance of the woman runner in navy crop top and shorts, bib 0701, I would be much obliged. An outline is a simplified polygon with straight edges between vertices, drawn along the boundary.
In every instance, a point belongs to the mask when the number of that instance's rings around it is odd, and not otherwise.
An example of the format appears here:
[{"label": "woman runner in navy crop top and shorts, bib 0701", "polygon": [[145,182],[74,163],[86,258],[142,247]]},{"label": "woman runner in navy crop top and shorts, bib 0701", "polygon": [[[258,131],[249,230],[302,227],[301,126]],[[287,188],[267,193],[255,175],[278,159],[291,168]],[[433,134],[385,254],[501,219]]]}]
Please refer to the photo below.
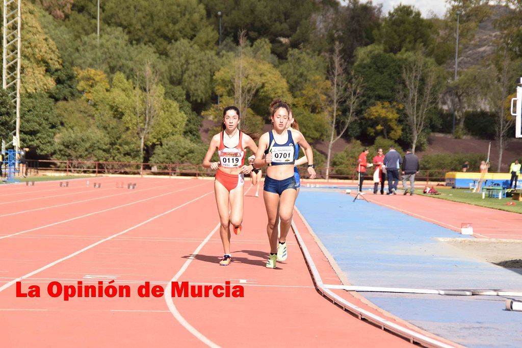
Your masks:
[{"label": "woman runner in navy crop top and shorts, bib 0701", "polygon": [[263,198],[268,215],[267,234],[270,242],[270,256],[267,268],[275,268],[277,261],[278,229],[277,217],[281,221],[281,235],[288,234],[292,221],[293,206],[297,197],[294,177],[295,145],[304,150],[308,159],[308,173],[315,177],[314,155],[309,143],[301,133],[287,129],[290,106],[276,99],[270,104],[273,129],[259,139],[254,167],[268,165]]}]

